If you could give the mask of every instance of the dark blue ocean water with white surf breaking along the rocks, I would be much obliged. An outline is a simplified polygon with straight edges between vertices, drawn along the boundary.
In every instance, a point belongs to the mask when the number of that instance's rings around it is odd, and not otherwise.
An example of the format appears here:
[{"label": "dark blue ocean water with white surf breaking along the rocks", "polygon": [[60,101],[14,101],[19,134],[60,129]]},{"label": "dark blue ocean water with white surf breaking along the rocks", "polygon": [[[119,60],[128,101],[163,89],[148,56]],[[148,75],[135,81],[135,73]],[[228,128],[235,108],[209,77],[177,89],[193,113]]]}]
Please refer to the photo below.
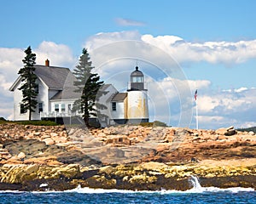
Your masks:
[{"label": "dark blue ocean water with white surf breaking along the rocks", "polygon": [[[191,190],[93,190],[81,188],[74,190],[20,192],[0,191],[0,203],[256,203],[256,191],[251,188],[218,189],[201,187],[197,178],[191,178]],[[45,184],[44,184],[45,185]]]}]

